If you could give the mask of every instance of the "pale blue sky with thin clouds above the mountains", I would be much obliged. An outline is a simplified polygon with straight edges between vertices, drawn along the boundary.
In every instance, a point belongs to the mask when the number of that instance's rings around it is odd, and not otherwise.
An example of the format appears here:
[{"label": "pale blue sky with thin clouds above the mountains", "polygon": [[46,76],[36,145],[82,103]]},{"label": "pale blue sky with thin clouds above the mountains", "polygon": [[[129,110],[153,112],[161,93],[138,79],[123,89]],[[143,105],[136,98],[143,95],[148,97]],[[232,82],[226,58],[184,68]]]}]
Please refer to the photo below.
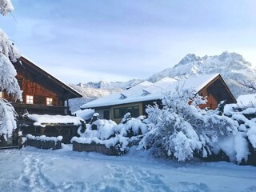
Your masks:
[{"label": "pale blue sky with thin clouds above the mountains", "polygon": [[256,64],[256,1],[12,0],[0,27],[21,53],[67,83],[148,78],[186,54]]}]

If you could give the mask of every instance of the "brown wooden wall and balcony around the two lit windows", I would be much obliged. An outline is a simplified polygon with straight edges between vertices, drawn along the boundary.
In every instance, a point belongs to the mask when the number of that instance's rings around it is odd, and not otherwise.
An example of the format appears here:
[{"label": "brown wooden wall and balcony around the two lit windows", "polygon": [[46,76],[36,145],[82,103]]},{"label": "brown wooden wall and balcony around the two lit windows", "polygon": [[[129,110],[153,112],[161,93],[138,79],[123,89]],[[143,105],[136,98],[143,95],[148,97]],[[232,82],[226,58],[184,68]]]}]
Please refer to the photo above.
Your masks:
[{"label": "brown wooden wall and balcony around the two lit windows", "polygon": [[[51,85],[41,74],[33,75],[29,70],[16,68],[18,84],[22,90],[22,102],[15,101],[11,95],[2,93],[2,98],[12,102],[20,115],[28,111],[30,114],[68,114],[64,98],[57,86]],[[26,95],[33,96],[33,104],[26,103]],[[46,105],[46,98],[52,98],[52,105]]]}]

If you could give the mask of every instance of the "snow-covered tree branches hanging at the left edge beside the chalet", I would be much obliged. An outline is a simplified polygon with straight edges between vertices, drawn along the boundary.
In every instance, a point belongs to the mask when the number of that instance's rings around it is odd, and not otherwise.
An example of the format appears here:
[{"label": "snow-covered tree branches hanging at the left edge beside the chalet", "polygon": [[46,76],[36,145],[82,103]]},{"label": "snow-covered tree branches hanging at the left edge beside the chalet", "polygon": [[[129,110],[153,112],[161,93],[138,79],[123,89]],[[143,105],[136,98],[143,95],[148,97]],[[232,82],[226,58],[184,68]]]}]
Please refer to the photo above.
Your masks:
[{"label": "snow-covered tree branches hanging at the left edge beside the chalet", "polygon": [[[0,14],[5,16],[14,10],[10,0],[0,0]],[[9,41],[7,35],[0,29],[0,91],[10,94],[15,100],[22,100],[22,91],[15,78],[16,70],[14,62],[20,57],[14,44]],[[15,110],[5,99],[0,98],[0,136],[6,139],[16,129]]]}]

